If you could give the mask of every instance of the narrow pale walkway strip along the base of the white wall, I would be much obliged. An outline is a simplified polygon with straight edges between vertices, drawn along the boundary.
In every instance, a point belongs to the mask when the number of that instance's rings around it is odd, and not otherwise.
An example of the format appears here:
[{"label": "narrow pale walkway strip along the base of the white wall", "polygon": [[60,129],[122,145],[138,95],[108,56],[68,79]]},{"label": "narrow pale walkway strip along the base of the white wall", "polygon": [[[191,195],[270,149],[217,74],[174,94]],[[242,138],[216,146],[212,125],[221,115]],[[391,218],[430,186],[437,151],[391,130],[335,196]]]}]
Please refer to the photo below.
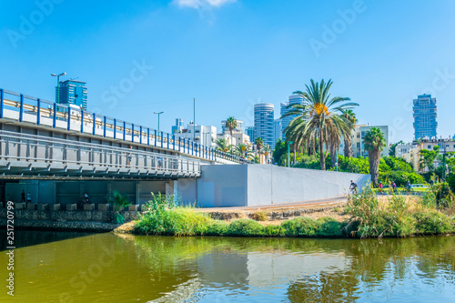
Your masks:
[{"label": "narrow pale walkway strip along the base of the white wall", "polygon": [[324,206],[329,204],[345,203],[348,201],[348,197],[333,197],[328,199],[311,200],[306,202],[292,202],[292,203],[280,203],[274,205],[258,205],[254,207],[204,207],[201,211],[217,212],[217,211],[235,211],[235,210],[254,210],[254,209],[274,209],[274,208],[288,208],[288,207],[309,207],[309,206]]}]

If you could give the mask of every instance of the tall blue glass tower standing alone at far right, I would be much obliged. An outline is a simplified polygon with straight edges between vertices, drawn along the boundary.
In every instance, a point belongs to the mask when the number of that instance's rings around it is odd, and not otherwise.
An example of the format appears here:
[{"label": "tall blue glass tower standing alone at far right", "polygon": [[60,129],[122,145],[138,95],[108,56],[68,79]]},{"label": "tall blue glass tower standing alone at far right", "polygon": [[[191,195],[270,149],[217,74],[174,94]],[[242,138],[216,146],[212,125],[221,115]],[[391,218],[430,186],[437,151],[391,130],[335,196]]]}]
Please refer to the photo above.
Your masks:
[{"label": "tall blue glass tower standing alone at far right", "polygon": [[431,95],[420,95],[413,101],[414,139],[437,138],[436,98],[432,98]]}]

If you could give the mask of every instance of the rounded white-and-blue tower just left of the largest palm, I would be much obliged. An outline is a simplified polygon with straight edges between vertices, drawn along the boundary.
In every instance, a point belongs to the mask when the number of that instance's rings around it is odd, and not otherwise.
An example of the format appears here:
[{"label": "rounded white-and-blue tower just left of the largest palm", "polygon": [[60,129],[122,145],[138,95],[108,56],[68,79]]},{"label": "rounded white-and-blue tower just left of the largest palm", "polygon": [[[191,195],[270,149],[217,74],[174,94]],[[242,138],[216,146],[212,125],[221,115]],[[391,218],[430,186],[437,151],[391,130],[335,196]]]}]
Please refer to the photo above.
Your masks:
[{"label": "rounded white-and-blue tower just left of the largest palm", "polygon": [[258,103],[255,104],[255,133],[254,139],[251,142],[255,142],[259,136],[264,141],[264,144],[270,146],[271,149],[275,148],[275,131],[274,121],[275,112],[273,104]]}]

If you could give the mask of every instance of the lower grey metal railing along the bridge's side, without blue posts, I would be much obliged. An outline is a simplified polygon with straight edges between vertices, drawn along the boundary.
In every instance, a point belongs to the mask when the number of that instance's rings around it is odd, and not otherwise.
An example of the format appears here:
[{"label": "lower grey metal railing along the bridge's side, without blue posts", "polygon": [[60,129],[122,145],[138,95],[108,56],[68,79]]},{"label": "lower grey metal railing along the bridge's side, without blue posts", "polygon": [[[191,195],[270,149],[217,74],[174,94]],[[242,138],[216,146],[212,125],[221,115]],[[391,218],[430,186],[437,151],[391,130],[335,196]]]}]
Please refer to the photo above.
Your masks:
[{"label": "lower grey metal railing along the bridge's side, without blue posts", "polygon": [[8,131],[0,131],[0,160],[89,167],[126,167],[183,174],[200,174],[201,170],[200,160],[187,157]]}]

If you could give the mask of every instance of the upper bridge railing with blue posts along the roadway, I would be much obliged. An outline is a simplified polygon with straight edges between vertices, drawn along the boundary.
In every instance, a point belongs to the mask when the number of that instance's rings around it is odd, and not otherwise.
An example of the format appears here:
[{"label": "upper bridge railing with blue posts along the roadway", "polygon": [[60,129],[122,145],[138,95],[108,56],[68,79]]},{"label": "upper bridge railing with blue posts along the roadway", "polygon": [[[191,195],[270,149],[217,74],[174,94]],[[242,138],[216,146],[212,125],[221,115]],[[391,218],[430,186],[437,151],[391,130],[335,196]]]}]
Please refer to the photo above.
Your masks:
[{"label": "upper bridge railing with blue posts along the roadway", "polygon": [[120,119],[91,113],[76,106],[56,104],[1,88],[0,118],[155,146],[212,161],[218,161],[218,158],[221,158],[237,163],[250,163],[242,157],[229,155],[211,146],[202,146],[176,135],[158,132],[150,127],[138,126]]}]

